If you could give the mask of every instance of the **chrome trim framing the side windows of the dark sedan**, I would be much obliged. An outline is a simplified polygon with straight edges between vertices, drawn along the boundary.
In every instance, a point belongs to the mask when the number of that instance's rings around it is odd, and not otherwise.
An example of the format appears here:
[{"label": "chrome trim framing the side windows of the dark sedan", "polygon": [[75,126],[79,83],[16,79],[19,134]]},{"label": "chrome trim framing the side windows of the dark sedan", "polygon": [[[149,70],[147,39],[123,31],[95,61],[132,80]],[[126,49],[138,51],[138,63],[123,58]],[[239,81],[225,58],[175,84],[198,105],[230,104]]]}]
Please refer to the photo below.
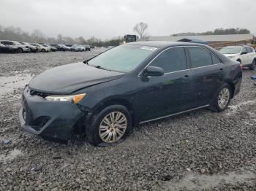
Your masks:
[{"label": "chrome trim framing the side windows of the dark sedan", "polygon": [[[176,47],[201,47],[201,46],[196,46],[196,45],[188,45],[188,46],[175,46],[175,47],[167,47],[165,50],[169,50],[171,48],[176,48]],[[210,54],[214,54],[214,52],[211,52],[210,50],[208,50],[206,47],[202,47],[204,49],[206,49],[208,52],[210,52]],[[138,74],[138,77],[141,77],[140,74],[146,69],[146,67],[148,67],[148,65],[150,65],[160,54],[162,54],[162,52],[165,52],[165,50],[162,50],[161,52],[159,52],[141,71],[140,73]],[[186,53],[186,52],[185,52]],[[187,55],[186,55],[187,56]],[[218,59],[219,57],[217,55],[215,55]],[[189,58],[190,59],[190,58]],[[211,58],[212,60],[212,58]],[[186,61],[187,61],[187,57],[186,57]],[[219,61],[222,61],[219,59]],[[187,63],[188,64],[188,63]],[[213,61],[212,61],[212,64],[211,65],[208,65],[208,66],[215,66],[215,65],[218,65],[218,64],[224,64],[224,63],[216,63],[214,64]],[[187,65],[188,66],[188,65]],[[196,67],[196,68],[190,68],[190,66],[188,66],[190,69],[184,69],[184,70],[178,70],[178,71],[170,71],[170,72],[166,72],[165,74],[173,74],[173,73],[176,73],[176,72],[179,72],[179,71],[187,71],[187,70],[192,70],[192,69],[200,69],[200,68],[205,68],[205,67],[208,67],[208,66],[200,66],[200,67]],[[164,74],[164,75],[165,75]]]}]

